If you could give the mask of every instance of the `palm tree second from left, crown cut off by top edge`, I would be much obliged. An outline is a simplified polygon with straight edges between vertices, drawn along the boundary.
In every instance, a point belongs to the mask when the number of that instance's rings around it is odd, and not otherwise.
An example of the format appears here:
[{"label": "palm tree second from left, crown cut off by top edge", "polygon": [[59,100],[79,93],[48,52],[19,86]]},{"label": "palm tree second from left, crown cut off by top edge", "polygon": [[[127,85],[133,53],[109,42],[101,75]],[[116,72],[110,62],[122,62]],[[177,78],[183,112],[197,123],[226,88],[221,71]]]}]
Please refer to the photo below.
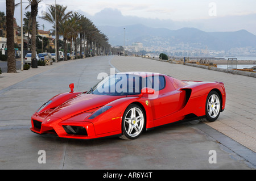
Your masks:
[{"label": "palm tree second from left, crown cut off by top edge", "polygon": [[38,5],[43,0],[28,0],[29,5],[26,7],[31,7],[31,60],[36,57],[36,16],[38,15]]}]

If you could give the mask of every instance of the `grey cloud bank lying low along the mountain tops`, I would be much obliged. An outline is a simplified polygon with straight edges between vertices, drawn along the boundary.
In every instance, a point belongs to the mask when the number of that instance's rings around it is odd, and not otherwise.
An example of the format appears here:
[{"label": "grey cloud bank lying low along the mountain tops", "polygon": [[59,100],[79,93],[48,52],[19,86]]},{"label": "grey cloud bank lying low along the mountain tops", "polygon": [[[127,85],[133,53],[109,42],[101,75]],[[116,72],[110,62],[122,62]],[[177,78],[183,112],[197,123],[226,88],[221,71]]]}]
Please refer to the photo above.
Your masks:
[{"label": "grey cloud bank lying low along the mountain tops", "polygon": [[118,9],[104,9],[89,17],[96,26],[127,26],[143,24],[148,27],[177,30],[183,27],[194,27],[202,31],[238,31],[247,30],[256,35],[256,14],[216,16],[210,19],[174,21],[170,19],[141,18],[123,15]]}]

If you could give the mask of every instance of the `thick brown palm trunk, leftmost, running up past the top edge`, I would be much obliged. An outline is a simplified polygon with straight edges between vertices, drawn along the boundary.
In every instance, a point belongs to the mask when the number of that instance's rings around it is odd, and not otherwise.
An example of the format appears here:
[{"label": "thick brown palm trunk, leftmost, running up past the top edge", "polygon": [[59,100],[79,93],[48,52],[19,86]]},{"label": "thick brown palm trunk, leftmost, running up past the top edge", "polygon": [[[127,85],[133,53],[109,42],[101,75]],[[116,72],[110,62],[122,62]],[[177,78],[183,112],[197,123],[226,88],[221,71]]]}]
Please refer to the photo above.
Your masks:
[{"label": "thick brown palm trunk, leftmost, running up past the top edge", "polygon": [[6,0],[7,73],[16,73],[13,32],[14,0]]}]

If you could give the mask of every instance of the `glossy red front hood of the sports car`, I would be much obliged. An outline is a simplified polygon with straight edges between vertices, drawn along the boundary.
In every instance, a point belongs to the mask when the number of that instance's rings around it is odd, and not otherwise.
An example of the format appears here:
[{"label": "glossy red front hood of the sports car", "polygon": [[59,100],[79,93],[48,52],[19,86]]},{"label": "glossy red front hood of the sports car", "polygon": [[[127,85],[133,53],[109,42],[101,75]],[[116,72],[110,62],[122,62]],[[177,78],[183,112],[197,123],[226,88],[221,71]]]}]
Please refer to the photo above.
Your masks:
[{"label": "glossy red front hood of the sports car", "polygon": [[92,113],[96,111],[97,108],[122,97],[123,96],[79,94],[56,107],[47,117],[58,117],[62,120],[66,120],[82,112]]}]

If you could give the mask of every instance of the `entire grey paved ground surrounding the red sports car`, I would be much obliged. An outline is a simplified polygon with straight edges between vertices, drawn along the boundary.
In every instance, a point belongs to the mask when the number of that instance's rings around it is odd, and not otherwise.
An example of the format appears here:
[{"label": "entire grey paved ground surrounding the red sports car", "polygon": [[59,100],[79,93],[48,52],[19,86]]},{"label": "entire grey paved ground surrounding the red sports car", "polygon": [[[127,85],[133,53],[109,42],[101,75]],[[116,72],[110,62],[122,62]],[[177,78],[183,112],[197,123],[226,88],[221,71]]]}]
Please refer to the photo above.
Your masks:
[{"label": "entire grey paved ground surrounding the red sports car", "polygon": [[[143,132],[137,140],[73,140],[30,131],[31,115],[44,102],[69,91],[69,83],[75,84],[75,91],[88,90],[99,81],[99,73],[110,74],[112,67],[116,71],[155,71],[179,79],[223,81],[228,96],[226,110],[214,123],[195,120],[160,127]],[[0,169],[255,169],[253,81],[255,78],[242,75],[118,56],[61,61],[3,73]],[[46,164],[39,163],[39,150],[46,151]],[[210,150],[217,153],[216,164],[209,162]]]}]

